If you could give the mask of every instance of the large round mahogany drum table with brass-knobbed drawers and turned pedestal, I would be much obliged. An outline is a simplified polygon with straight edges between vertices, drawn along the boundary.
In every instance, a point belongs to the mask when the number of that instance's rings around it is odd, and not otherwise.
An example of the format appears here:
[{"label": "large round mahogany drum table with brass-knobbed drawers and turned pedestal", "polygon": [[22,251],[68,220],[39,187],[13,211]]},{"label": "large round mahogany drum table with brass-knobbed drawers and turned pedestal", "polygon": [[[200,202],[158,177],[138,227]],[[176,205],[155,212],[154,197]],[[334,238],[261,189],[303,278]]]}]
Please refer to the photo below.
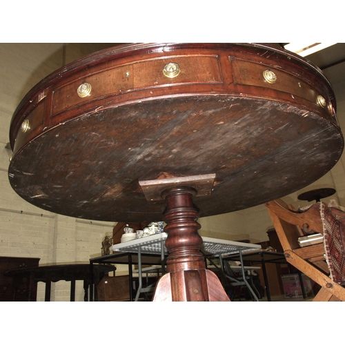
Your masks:
[{"label": "large round mahogany drum table with brass-knobbed drawers and turned pedestal", "polygon": [[322,72],[273,46],[116,46],[53,72],[21,101],[10,184],[62,215],[164,219],[171,282],[161,285],[172,300],[223,300],[204,269],[197,218],[322,177],[344,147],[335,112]]}]

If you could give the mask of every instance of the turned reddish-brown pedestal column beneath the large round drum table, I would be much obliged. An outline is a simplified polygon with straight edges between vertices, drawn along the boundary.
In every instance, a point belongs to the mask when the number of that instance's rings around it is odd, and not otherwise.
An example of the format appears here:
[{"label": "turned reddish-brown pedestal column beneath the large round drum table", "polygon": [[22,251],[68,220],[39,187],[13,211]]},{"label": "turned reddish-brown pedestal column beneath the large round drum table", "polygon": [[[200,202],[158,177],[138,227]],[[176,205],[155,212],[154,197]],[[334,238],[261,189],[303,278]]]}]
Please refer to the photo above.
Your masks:
[{"label": "turned reddish-brown pedestal column beneath the large round drum table", "polygon": [[196,194],[195,188],[186,186],[162,194],[167,202],[164,230],[170,255],[166,262],[168,273],[159,280],[153,301],[230,301],[215,273],[206,270],[200,252],[199,215],[193,205]]}]

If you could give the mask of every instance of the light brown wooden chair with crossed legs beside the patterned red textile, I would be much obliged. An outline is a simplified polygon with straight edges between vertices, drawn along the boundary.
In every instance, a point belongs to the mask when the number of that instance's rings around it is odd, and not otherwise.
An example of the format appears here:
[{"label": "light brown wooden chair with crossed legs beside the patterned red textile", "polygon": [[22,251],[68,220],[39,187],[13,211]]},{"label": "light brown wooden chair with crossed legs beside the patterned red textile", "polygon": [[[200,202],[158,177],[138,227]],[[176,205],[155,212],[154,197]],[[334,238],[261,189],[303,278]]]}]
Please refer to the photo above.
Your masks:
[{"label": "light brown wooden chair with crossed legs beside the patterned red textile", "polygon": [[345,288],[333,282],[329,276],[324,244],[299,246],[298,237],[304,231],[324,233],[320,204],[313,204],[305,212],[292,210],[284,201],[277,199],[265,204],[279,241],[284,249],[286,260],[295,268],[321,286],[314,301],[345,301]]}]

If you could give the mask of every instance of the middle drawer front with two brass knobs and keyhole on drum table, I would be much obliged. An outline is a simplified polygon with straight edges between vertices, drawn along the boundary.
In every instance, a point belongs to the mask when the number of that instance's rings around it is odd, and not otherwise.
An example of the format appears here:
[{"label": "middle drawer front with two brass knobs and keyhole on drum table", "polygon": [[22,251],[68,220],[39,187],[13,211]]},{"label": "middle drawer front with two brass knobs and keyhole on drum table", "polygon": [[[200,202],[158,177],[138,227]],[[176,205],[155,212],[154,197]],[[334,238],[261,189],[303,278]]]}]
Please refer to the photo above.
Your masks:
[{"label": "middle drawer front with two brass knobs and keyhole on drum table", "polygon": [[[165,77],[163,74],[164,66],[170,61],[178,63],[181,70],[174,79]],[[92,90],[89,97],[81,98],[77,95],[77,89],[84,82],[90,83]],[[81,103],[90,103],[93,99],[104,99],[108,95],[119,92],[184,83],[221,83],[217,57],[172,56],[168,59],[139,61],[93,73],[88,70],[83,71],[80,77],[54,90],[52,116]]]}]

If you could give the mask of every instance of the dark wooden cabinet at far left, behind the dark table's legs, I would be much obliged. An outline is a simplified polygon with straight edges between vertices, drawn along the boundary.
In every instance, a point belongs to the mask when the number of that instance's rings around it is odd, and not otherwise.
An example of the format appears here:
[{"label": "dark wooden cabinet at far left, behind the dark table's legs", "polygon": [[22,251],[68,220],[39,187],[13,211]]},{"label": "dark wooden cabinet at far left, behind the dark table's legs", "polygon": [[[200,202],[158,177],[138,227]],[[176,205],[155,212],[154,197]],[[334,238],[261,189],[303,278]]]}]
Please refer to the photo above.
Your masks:
[{"label": "dark wooden cabinet at far left, behind the dark table's legs", "polygon": [[[6,277],[4,273],[8,270],[14,270],[17,268],[23,267],[37,267],[39,266],[39,259],[32,257],[0,257],[0,301],[13,301],[14,287],[12,283],[12,277]],[[27,286],[23,277],[23,281],[19,282],[17,288],[17,301],[26,301],[27,300]],[[34,291],[32,290],[32,298],[36,299],[37,293],[37,284],[34,286]]]}]

